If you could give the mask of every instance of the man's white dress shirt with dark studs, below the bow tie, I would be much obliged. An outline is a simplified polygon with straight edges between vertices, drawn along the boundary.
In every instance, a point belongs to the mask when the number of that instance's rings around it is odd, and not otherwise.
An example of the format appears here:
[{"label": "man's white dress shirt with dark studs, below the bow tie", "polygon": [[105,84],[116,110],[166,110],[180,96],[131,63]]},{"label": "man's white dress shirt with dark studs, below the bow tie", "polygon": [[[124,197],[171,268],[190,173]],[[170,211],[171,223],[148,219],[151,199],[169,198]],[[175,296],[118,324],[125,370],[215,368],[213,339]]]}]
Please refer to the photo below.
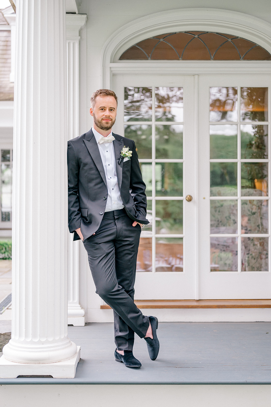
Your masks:
[{"label": "man's white dress shirt with dark studs, below the bow tie", "polygon": [[[115,160],[115,151],[113,143],[99,143],[101,134],[98,133],[92,127],[94,137],[97,141],[98,149],[101,155],[101,161],[103,162],[104,172],[106,174],[106,183],[108,189],[108,198],[106,201],[105,212],[110,212],[111,210],[117,210],[124,208],[123,202],[121,199],[121,194],[119,192],[119,185],[117,179],[116,171],[116,160]],[[108,136],[112,136],[111,133]]]}]

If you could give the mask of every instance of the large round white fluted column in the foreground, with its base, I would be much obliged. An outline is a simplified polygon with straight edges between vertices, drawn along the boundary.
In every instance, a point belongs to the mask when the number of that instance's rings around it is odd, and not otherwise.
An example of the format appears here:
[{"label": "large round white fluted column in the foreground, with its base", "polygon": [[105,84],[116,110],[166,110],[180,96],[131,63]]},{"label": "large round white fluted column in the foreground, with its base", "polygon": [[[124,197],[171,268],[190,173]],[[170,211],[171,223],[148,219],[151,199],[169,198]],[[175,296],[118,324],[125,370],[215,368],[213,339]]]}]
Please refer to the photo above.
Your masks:
[{"label": "large round white fluted column in the foreground, with its base", "polygon": [[12,332],[0,376],[74,377],[67,335],[65,0],[18,0]]}]

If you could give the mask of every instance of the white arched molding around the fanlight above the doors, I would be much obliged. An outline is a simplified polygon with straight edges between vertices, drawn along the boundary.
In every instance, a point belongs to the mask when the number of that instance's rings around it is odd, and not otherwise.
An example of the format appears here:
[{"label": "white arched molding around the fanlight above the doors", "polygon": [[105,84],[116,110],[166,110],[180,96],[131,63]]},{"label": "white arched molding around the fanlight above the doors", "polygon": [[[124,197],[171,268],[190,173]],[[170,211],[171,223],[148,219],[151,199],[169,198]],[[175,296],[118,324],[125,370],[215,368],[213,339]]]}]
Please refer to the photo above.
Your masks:
[{"label": "white arched molding around the fanlight above the doors", "polygon": [[[119,57],[125,50],[143,39],[175,31],[214,31],[238,35],[255,42],[271,53],[271,24],[259,18],[236,11],[211,8],[162,11],[129,22],[111,35],[102,51],[103,87],[110,87],[112,63],[120,63]],[[148,62],[151,61],[144,63]],[[187,61],[172,62],[181,66]],[[121,63],[127,64],[126,61],[121,61]],[[134,61],[134,65],[138,66],[138,63],[142,63],[142,61]]]}]

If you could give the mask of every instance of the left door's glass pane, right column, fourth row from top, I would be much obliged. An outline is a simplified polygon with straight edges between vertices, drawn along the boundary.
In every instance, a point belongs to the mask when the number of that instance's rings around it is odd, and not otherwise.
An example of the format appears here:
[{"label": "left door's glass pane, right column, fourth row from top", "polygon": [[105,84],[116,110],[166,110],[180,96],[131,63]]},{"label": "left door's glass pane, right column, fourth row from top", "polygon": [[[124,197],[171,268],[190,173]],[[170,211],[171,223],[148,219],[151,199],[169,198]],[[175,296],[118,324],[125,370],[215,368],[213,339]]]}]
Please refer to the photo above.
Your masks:
[{"label": "left door's glass pane, right column, fourth row from top", "polygon": [[183,234],[183,201],[156,201],[156,234]]}]

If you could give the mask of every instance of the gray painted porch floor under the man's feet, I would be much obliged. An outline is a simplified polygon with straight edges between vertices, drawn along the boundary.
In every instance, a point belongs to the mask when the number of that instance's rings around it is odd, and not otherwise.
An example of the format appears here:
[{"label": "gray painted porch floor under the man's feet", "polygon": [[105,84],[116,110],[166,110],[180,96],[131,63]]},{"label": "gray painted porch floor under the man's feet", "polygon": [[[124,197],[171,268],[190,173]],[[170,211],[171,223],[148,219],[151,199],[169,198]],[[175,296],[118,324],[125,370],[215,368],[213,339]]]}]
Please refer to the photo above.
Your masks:
[{"label": "gray painted porch floor under the man's feet", "polygon": [[271,384],[271,322],[161,322],[160,352],[148,356],[136,336],[134,356],[140,369],[114,358],[113,324],[68,327],[81,346],[74,379],[0,379],[0,384]]}]

